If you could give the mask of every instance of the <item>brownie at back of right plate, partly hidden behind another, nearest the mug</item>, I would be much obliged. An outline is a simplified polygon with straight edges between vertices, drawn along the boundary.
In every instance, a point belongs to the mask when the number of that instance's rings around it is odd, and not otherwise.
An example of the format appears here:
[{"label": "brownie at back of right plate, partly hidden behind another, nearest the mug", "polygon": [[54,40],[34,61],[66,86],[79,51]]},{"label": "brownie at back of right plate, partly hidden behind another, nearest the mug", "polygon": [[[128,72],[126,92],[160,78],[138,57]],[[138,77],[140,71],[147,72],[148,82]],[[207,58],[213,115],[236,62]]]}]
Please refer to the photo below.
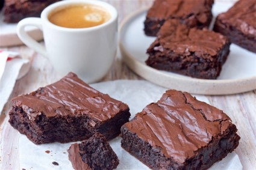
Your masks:
[{"label": "brownie at back of right plate, partly hidden behind another, nearest the mug", "polygon": [[146,14],[145,34],[157,35],[167,19],[179,19],[189,27],[208,27],[213,17],[213,3],[213,0],[155,0]]}]

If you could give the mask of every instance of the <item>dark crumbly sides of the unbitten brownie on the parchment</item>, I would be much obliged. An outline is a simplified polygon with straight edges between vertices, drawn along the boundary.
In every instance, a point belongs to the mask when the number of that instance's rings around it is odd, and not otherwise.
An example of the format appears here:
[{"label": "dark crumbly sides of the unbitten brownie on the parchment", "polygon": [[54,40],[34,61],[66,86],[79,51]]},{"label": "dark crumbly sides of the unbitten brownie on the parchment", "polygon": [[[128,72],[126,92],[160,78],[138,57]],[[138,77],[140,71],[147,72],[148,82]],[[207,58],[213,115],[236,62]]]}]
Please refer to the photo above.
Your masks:
[{"label": "dark crumbly sides of the unbitten brownie on the parchment", "polygon": [[224,135],[220,138],[217,136],[206,147],[199,148],[198,151],[195,151],[195,157],[187,159],[183,164],[164,156],[161,153],[161,148],[152,148],[148,142],[140,139],[125,125],[121,128],[121,146],[152,169],[207,169],[215,162],[222,160],[239,145],[240,137],[236,131],[234,124],[229,126]]}]

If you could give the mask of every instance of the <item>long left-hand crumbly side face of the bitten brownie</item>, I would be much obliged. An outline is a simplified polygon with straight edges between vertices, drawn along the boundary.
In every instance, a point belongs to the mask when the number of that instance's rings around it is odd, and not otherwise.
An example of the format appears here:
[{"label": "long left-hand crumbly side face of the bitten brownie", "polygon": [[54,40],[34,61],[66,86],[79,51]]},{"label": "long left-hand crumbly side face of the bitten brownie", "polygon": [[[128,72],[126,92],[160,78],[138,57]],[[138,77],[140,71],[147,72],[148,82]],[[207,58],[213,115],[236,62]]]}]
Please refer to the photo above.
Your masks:
[{"label": "long left-hand crumbly side face of the bitten brownie", "polygon": [[11,126],[26,135],[34,144],[81,141],[92,136],[92,133],[84,127],[87,118],[48,118],[41,114],[32,121],[27,113],[17,106],[13,106],[9,115]]}]

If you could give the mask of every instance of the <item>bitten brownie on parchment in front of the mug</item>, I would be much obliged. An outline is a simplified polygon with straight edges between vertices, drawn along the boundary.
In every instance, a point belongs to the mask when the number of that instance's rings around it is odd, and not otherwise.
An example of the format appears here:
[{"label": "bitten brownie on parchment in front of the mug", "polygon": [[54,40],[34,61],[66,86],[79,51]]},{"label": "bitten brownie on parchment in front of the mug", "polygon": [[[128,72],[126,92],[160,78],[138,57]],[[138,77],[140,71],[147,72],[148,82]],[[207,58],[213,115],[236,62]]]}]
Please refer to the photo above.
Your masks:
[{"label": "bitten brownie on parchment in front of the mug", "polygon": [[96,132],[109,140],[130,118],[125,103],[93,89],[74,73],[11,102],[9,123],[35,144],[81,141]]}]

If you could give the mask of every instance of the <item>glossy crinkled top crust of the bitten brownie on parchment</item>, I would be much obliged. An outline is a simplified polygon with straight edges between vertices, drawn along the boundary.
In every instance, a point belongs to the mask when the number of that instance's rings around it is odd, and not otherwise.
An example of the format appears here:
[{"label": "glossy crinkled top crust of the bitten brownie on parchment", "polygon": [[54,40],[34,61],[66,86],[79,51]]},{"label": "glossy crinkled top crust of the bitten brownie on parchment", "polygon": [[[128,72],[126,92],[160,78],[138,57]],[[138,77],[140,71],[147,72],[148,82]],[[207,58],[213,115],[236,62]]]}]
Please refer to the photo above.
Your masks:
[{"label": "glossy crinkled top crust of the bitten brownie on parchment", "polygon": [[31,119],[40,114],[46,117],[88,115],[101,122],[128,108],[124,103],[93,89],[74,73],[33,93],[14,97],[11,101],[22,107]]}]

